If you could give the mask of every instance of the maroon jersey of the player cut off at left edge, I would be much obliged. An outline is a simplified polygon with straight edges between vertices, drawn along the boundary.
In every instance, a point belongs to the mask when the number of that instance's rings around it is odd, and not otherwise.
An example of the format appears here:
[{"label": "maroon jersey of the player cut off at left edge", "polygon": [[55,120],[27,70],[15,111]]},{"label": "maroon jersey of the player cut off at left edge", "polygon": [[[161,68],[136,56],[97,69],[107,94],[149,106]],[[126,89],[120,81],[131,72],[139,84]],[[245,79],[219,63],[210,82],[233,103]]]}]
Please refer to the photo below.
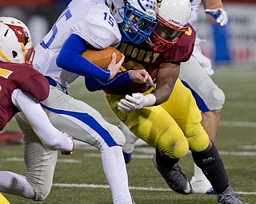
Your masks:
[{"label": "maroon jersey of the player cut off at left edge", "polygon": [[0,131],[18,112],[11,101],[16,88],[38,100],[46,100],[50,91],[46,77],[29,65],[0,61]]}]

